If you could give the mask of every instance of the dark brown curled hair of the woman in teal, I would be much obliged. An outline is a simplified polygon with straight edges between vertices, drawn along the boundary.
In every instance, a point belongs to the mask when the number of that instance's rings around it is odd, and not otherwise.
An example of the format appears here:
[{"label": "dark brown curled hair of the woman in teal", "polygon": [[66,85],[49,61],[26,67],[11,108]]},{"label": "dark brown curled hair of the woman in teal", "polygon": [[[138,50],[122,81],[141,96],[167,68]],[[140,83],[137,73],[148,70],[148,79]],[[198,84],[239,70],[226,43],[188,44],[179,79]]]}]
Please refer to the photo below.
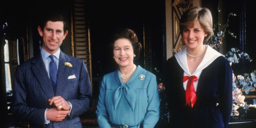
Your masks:
[{"label": "dark brown curled hair of the woman in teal", "polygon": [[128,29],[128,28],[118,30],[117,33],[113,37],[111,47],[113,48],[115,41],[117,39],[121,39],[121,38],[130,40],[130,42],[132,43],[132,48],[133,48],[134,54],[136,55],[134,57],[134,60],[139,59],[139,54],[141,52],[142,46],[141,46],[141,42],[138,41],[138,37],[137,37],[136,33],[133,30]]}]

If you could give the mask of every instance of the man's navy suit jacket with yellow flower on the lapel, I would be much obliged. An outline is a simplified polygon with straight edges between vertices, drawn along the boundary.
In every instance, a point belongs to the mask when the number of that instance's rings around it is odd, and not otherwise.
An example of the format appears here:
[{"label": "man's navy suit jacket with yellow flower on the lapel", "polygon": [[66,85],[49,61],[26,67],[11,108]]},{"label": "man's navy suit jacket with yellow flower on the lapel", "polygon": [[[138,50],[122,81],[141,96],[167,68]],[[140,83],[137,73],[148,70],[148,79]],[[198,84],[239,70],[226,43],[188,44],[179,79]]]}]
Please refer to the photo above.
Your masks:
[{"label": "man's navy suit jacket with yellow flower on the lapel", "polygon": [[[71,63],[72,67],[66,66],[65,62]],[[70,78],[70,76],[75,76],[75,78]],[[72,111],[63,121],[50,121],[50,124],[45,125],[46,108],[53,107],[49,105],[48,100],[58,95],[72,104]],[[40,55],[17,67],[13,97],[13,114],[28,121],[30,128],[81,128],[79,115],[88,111],[93,104],[91,84],[85,63],[63,52],[59,57],[55,94]]]}]

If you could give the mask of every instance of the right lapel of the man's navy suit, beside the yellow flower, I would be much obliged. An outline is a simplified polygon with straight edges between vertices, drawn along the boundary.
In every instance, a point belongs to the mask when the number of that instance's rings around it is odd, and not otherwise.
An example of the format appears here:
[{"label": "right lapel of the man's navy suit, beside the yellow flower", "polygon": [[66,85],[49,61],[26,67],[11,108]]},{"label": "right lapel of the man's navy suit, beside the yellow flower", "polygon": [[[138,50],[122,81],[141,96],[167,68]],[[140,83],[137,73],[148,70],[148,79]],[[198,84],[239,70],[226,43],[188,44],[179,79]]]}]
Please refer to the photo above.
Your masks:
[{"label": "right lapel of the man's navy suit, beside the yellow flower", "polygon": [[57,78],[57,85],[56,85],[56,95],[62,95],[64,92],[66,85],[67,85],[67,78],[68,78],[68,72],[71,72],[70,67],[67,67],[65,65],[65,62],[70,62],[71,60],[68,58],[66,54],[61,52],[60,58],[59,58],[59,68],[58,68],[58,78]]}]

